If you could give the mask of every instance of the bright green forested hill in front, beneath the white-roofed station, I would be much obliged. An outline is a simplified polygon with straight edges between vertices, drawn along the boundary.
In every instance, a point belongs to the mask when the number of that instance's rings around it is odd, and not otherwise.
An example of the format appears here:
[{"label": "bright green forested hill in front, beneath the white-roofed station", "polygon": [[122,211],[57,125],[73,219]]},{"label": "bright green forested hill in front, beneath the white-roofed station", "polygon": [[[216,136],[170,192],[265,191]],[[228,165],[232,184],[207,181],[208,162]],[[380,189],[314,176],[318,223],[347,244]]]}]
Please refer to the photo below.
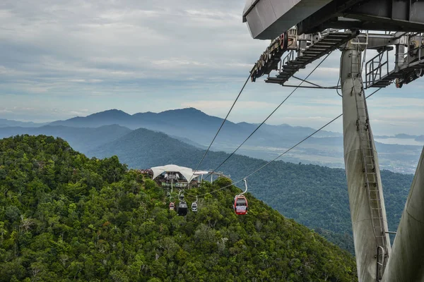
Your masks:
[{"label": "bright green forested hill in front, beneath the white-roofed station", "polygon": [[0,281],[357,281],[348,252],[252,195],[236,216],[237,192],[177,216],[117,157],[88,159],[42,135],[0,140]]}]

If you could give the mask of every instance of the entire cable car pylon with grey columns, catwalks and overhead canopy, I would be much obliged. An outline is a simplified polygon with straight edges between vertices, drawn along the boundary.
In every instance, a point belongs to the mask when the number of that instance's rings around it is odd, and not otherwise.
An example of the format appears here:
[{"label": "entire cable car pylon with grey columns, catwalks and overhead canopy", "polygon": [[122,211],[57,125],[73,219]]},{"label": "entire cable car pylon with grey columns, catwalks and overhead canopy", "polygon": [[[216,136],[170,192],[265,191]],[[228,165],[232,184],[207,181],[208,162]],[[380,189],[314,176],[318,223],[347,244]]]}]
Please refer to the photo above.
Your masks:
[{"label": "entire cable car pylon with grey columns, catwalks and overhead canopy", "polygon": [[[296,78],[294,74],[300,68],[330,49],[342,50],[343,149],[358,281],[424,282],[424,247],[420,241],[424,236],[424,151],[391,250],[360,63],[363,50],[377,51],[377,56],[365,64],[365,89],[387,87],[392,82],[400,88],[422,77],[423,1],[246,0],[242,19],[255,39],[272,40],[290,29],[290,36],[298,40],[298,48],[281,61],[276,78],[269,77],[266,82],[291,87],[285,82]],[[358,34],[360,30],[379,32]],[[271,42],[265,54],[270,54],[273,45],[275,42]],[[388,51],[394,48],[394,68],[390,70]],[[266,61],[262,55],[257,63],[260,70],[253,73],[254,78],[269,73],[268,69],[262,70],[264,67],[275,68],[273,61]],[[331,88],[308,83],[305,87]],[[338,89],[338,85],[334,88]]]}]

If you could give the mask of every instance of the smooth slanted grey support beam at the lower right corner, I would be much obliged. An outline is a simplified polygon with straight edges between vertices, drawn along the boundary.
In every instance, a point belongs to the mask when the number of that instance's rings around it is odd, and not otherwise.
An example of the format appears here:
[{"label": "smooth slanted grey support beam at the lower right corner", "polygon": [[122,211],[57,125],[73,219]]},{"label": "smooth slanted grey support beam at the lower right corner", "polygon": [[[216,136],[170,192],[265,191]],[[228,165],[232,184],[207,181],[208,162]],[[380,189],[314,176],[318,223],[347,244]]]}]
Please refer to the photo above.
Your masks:
[{"label": "smooth slanted grey support beam at the lower right corner", "polygon": [[424,149],[394,238],[384,282],[424,281]]}]

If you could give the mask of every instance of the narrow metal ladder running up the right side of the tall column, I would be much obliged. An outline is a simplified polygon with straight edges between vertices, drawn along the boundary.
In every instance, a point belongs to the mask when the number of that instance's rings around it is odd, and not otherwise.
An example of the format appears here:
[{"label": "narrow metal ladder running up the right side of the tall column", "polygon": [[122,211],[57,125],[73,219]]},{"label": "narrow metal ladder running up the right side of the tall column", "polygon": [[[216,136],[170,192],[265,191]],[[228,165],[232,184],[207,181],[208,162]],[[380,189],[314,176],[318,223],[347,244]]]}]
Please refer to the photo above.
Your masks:
[{"label": "narrow metal ladder running up the right side of the tall column", "polygon": [[[355,65],[355,64],[353,64]],[[356,109],[358,119],[356,121],[357,130],[360,137],[360,151],[363,159],[363,173],[365,176],[365,189],[367,189],[368,204],[370,207],[370,217],[372,222],[372,231],[375,236],[376,255],[377,258],[377,281],[381,281],[384,274],[384,269],[387,264],[387,238],[384,229],[384,220],[382,213],[382,203],[379,192],[377,166],[374,158],[374,146],[370,131],[370,118],[368,116],[367,101],[365,92],[362,90],[360,95],[363,96],[363,101],[358,101],[355,94]],[[364,122],[365,121],[365,122]]]}]

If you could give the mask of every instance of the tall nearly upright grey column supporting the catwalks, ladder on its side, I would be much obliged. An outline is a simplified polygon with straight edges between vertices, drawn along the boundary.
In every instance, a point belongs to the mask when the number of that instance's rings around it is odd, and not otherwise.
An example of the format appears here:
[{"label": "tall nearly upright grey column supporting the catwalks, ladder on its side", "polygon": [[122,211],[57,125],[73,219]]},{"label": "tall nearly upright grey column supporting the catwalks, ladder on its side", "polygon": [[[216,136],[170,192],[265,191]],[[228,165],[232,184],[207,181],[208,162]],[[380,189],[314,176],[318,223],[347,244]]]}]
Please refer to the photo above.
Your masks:
[{"label": "tall nearly upright grey column supporting the catwalks, ladder on its side", "polygon": [[[387,240],[385,246],[386,258],[390,252],[389,236],[382,232],[380,238],[375,235],[375,223],[372,222],[372,210],[370,204],[370,192],[367,191],[367,179],[365,178],[364,152],[372,146],[375,148],[371,127],[367,118],[365,92],[361,77],[361,51],[358,45],[349,42],[341,55],[341,88],[343,93],[343,148],[348,182],[348,196],[351,207],[351,220],[353,229],[353,241],[355,243],[356,264],[358,268],[358,280],[361,282],[377,281],[377,247],[382,240]],[[360,126],[367,128],[368,145],[361,139]],[[362,141],[361,141],[362,140]],[[366,147],[367,148],[366,148]],[[374,160],[370,171],[374,173],[376,188],[378,188],[381,209],[382,225],[387,230],[386,209],[382,193],[381,178],[379,173],[377,151],[371,150]],[[367,156],[369,157],[369,156]],[[382,274],[381,274],[382,275]]]}]

